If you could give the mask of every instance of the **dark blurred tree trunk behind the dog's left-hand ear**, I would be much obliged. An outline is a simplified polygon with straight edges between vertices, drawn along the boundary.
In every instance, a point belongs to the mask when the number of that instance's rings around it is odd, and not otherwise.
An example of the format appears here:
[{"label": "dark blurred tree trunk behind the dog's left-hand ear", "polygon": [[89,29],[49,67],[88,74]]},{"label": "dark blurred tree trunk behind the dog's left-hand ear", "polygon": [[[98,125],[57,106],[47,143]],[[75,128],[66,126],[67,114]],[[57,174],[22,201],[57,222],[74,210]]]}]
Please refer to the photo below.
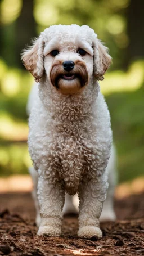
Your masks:
[{"label": "dark blurred tree trunk behind the dog's left-hand ear", "polygon": [[30,38],[36,37],[36,23],[33,16],[33,0],[23,0],[19,18],[16,20],[15,55],[17,66],[22,67],[20,52],[26,44],[30,44]]}]

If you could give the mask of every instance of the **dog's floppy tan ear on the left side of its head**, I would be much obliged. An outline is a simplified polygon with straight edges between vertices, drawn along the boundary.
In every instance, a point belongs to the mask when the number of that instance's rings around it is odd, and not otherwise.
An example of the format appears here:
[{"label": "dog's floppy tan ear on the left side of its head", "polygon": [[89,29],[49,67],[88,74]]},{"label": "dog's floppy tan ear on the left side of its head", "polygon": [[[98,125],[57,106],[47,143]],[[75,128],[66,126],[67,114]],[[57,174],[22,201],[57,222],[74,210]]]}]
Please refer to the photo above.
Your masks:
[{"label": "dog's floppy tan ear on the left side of its head", "polygon": [[44,71],[44,56],[43,56],[44,41],[39,37],[33,41],[33,46],[28,50],[23,50],[21,60],[25,68],[33,75],[35,82],[43,76]]}]

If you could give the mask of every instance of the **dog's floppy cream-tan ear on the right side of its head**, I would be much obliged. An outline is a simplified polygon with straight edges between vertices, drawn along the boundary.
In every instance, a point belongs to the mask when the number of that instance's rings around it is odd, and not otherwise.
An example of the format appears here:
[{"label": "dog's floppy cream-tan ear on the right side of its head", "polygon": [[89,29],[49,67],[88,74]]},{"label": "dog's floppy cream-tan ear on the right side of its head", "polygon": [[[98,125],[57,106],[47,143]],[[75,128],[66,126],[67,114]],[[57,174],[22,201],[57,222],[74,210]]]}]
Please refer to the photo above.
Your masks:
[{"label": "dog's floppy cream-tan ear on the right side of its head", "polygon": [[94,75],[97,80],[103,80],[106,70],[110,67],[111,56],[108,53],[108,48],[98,39],[93,42],[93,50]]}]

